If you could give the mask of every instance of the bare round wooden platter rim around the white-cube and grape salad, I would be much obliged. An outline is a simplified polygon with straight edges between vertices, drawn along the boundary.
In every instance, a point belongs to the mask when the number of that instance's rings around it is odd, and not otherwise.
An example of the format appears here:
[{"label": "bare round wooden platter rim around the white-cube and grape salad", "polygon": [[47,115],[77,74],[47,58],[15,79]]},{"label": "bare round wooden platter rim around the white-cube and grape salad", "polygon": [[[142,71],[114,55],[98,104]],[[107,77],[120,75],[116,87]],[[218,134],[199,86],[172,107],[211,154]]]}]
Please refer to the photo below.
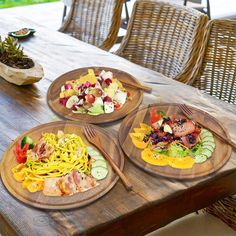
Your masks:
[{"label": "bare round wooden platter rim around the white-cube and grape salad", "polygon": [[120,79],[121,82],[129,81],[129,82],[139,84],[139,82],[132,75],[124,71],[109,68],[109,67],[85,67],[85,68],[80,68],[80,69],[67,72],[59,76],[50,85],[48,89],[47,101],[51,109],[56,114],[69,120],[84,121],[84,122],[89,122],[93,124],[101,124],[101,123],[107,123],[107,122],[119,120],[139,107],[143,99],[143,92],[138,88],[136,89],[136,88],[124,85],[124,84],[123,86],[128,91],[131,92],[132,100],[127,101],[124,104],[124,106],[121,107],[121,109],[115,110],[112,113],[101,114],[98,116],[91,116],[88,114],[75,114],[70,109],[67,109],[66,107],[62,106],[59,103],[59,94],[61,91],[61,86],[65,84],[65,82],[68,80],[79,79],[81,76],[86,75],[88,73],[88,69],[93,69],[95,71],[95,74],[99,74],[102,70],[111,71],[114,75],[114,78],[117,78],[118,80]]}]

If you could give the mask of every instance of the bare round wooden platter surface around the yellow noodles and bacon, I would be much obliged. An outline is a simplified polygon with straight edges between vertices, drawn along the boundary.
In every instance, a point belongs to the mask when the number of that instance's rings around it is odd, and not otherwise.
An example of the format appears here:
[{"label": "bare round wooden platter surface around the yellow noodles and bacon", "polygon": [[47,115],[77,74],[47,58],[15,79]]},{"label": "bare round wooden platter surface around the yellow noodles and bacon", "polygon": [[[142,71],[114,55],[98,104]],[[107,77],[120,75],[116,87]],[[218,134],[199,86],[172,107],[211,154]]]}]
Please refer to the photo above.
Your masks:
[{"label": "bare round wooden platter surface around the yellow noodles and bacon", "polygon": [[[1,164],[1,177],[4,185],[8,191],[18,200],[43,209],[72,209],[76,207],[82,207],[87,205],[106,194],[118,181],[118,176],[113,172],[110,166],[109,173],[104,180],[98,181],[99,185],[86,192],[76,193],[72,196],[61,197],[48,197],[44,196],[42,191],[36,193],[30,193],[28,190],[22,187],[22,184],[17,182],[13,178],[12,168],[18,163],[15,160],[13,150],[15,149],[16,142],[22,140],[25,135],[29,135],[33,140],[38,140],[42,133],[52,132],[57,133],[58,130],[62,130],[65,133],[74,133],[80,135],[83,141],[88,146],[92,146],[85,138],[82,132],[83,124],[78,124],[73,121],[58,121],[44,125],[37,126],[22,135],[20,135],[7,149],[4,154]],[[104,129],[93,126],[100,139],[104,142],[104,147],[107,148],[107,152],[113,158],[117,166],[123,170],[124,156],[119,148],[118,141],[115,140],[112,135],[104,131]],[[97,150],[95,147],[93,147]]]}]

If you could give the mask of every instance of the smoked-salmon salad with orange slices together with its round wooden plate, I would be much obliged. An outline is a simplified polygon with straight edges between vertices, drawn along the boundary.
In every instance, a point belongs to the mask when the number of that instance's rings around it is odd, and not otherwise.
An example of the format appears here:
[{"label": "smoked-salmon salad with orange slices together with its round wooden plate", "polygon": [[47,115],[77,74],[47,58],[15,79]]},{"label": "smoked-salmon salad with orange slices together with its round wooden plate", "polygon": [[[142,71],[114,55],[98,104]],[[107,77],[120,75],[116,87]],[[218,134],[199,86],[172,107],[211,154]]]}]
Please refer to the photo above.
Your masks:
[{"label": "smoked-salmon salad with orange slices together with its round wooden plate", "polygon": [[217,119],[188,106],[202,128],[184,116],[178,103],[157,103],[130,113],[119,129],[119,142],[126,156],[152,175],[192,179],[221,168],[231,147],[210,130],[228,137]]}]

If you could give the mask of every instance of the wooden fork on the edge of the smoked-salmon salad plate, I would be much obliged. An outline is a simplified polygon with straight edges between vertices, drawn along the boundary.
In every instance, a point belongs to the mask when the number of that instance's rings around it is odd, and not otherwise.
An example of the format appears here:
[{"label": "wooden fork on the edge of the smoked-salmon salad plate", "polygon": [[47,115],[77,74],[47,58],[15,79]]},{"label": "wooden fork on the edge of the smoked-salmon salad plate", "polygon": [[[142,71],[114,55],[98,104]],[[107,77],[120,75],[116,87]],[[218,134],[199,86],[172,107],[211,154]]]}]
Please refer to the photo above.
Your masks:
[{"label": "wooden fork on the edge of the smoked-salmon salad plate", "polygon": [[[179,105],[180,110],[184,113],[184,115],[193,120],[196,121],[196,118],[193,117],[193,112],[187,107],[187,105],[185,104],[180,104]],[[217,137],[219,137],[220,139],[222,139],[223,141],[225,141],[226,143],[228,143],[229,145],[231,145],[232,147],[236,148],[236,143],[234,143],[231,139],[223,136],[222,134],[218,133],[217,131],[213,130],[212,128],[207,127],[203,122],[197,120],[196,123],[200,124],[200,126],[211,130]]]}]

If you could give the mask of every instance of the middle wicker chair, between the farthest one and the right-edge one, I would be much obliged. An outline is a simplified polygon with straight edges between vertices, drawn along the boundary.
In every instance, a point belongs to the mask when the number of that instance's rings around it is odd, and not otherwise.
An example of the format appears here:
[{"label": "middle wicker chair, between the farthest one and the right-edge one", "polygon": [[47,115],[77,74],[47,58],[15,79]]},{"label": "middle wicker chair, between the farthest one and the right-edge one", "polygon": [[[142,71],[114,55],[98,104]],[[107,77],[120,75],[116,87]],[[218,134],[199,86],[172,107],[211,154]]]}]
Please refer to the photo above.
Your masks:
[{"label": "middle wicker chair, between the farthest one and the right-edge one", "polygon": [[136,64],[187,83],[198,58],[208,17],[157,0],[137,0],[116,52]]}]

